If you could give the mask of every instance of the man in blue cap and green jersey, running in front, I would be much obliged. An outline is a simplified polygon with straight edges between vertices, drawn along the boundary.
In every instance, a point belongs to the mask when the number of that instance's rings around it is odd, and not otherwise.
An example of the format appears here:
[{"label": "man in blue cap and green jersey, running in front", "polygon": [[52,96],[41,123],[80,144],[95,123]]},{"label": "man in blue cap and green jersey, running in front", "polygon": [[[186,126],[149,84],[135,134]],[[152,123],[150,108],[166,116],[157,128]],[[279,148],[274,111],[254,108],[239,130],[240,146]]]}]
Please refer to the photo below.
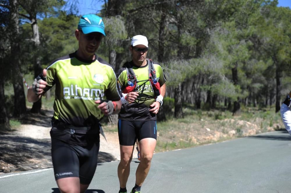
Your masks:
[{"label": "man in blue cap and green jersey, running in front", "polygon": [[113,68],[95,52],[105,36],[102,18],[81,17],[75,30],[79,48],[56,59],[29,88],[35,102],[56,86],[52,117],[52,162],[56,183],[63,192],[85,192],[97,167],[100,124],[103,115],[121,108]]}]

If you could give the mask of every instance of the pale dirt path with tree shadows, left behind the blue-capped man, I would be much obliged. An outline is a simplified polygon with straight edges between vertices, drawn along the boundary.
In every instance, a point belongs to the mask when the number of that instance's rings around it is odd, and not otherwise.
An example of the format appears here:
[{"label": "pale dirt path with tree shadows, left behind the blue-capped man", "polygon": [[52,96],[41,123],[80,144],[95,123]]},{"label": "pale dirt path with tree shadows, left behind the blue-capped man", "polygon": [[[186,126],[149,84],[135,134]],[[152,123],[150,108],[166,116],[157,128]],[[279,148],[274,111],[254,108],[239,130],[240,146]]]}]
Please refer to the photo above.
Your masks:
[{"label": "pale dirt path with tree shadows, left behind the blue-capped man", "polygon": [[[29,117],[10,132],[0,132],[0,174],[52,167],[49,131],[53,111]],[[100,135],[98,162],[116,161],[120,158],[117,132]],[[134,150],[134,158],[137,152]]]}]

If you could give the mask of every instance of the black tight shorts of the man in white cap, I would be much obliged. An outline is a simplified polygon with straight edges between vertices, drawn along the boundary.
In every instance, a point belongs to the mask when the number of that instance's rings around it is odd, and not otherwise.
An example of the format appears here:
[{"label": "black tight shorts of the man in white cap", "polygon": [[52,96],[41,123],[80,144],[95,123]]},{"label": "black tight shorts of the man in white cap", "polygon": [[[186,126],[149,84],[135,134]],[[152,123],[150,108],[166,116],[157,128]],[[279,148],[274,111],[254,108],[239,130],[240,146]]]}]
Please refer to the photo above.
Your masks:
[{"label": "black tight shorts of the man in white cap", "polygon": [[118,137],[120,145],[134,145],[136,139],[157,140],[157,121],[125,121],[118,119]]}]

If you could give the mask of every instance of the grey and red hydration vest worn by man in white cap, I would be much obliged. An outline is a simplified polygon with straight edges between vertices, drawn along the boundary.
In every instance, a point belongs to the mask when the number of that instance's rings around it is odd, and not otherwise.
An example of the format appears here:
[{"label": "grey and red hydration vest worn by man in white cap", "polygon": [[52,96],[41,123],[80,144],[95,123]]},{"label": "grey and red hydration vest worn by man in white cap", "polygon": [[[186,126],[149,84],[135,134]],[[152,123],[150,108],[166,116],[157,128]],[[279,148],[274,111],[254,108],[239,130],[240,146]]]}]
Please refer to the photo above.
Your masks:
[{"label": "grey and red hydration vest worn by man in white cap", "polygon": [[[151,59],[146,59],[148,61],[148,74],[149,74],[149,79],[147,80],[137,80],[136,76],[134,74],[133,69],[131,68],[131,65],[129,62],[125,63],[125,68],[126,68],[126,73],[127,73],[127,86],[125,89],[123,89],[123,93],[129,93],[129,92],[135,92],[141,88],[141,94],[139,94],[139,97],[147,97],[147,98],[152,98],[155,99],[157,96],[160,95],[161,90],[160,90],[160,83],[159,78],[156,76],[156,70],[154,68],[154,64]],[[147,81],[150,81],[150,85],[152,88],[152,91],[154,93],[154,97],[151,97],[149,95],[143,94],[143,89],[145,87],[145,83]],[[139,85],[136,88],[136,83],[138,82],[144,82],[143,84]]]}]

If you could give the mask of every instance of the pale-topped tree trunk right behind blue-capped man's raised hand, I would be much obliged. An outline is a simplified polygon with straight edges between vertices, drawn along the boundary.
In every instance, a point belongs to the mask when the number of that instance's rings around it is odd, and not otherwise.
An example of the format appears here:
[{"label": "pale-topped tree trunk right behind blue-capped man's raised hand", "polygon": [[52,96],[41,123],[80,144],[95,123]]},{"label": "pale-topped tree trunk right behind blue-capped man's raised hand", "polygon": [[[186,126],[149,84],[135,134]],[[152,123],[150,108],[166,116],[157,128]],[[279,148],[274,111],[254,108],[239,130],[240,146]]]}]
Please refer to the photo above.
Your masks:
[{"label": "pale-topped tree trunk right behind blue-capped man's raised hand", "polygon": [[[39,39],[39,31],[38,25],[36,20],[36,15],[31,19],[31,28],[33,32],[33,42],[34,42],[34,77],[37,77],[39,74],[42,73],[42,66],[40,65],[40,53],[39,53],[39,46],[40,46],[40,39]],[[41,99],[33,103],[31,112],[32,113],[40,113],[41,110]]]}]

